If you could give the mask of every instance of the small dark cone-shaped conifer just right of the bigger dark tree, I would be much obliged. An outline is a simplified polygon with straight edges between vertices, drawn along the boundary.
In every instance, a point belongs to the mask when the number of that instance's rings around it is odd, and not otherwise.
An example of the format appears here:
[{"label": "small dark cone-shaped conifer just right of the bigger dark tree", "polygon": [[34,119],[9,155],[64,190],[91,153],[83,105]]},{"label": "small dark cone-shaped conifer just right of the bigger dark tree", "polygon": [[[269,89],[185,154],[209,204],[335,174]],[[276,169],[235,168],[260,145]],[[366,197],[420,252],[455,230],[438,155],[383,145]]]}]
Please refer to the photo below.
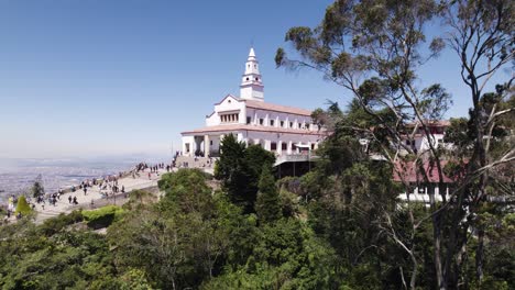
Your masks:
[{"label": "small dark cone-shaped conifer just right of the bigger dark tree", "polygon": [[277,187],[270,166],[263,166],[260,177],[255,212],[263,223],[272,223],[281,219],[281,203]]}]

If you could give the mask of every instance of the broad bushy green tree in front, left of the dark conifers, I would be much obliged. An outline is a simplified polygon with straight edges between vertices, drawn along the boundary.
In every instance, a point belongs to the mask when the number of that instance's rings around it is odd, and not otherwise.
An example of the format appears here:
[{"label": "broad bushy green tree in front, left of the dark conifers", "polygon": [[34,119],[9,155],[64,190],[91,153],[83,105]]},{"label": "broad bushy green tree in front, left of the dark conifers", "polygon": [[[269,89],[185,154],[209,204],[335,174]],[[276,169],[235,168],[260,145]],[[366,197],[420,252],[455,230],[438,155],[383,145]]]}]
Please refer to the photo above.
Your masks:
[{"label": "broad bushy green tree in front, left of the dark conifers", "polygon": [[223,193],[213,194],[202,171],[165,175],[160,189],[165,196],[158,202],[133,209],[108,228],[121,269],[143,269],[157,288],[196,288],[226,259],[245,255],[252,225]]}]

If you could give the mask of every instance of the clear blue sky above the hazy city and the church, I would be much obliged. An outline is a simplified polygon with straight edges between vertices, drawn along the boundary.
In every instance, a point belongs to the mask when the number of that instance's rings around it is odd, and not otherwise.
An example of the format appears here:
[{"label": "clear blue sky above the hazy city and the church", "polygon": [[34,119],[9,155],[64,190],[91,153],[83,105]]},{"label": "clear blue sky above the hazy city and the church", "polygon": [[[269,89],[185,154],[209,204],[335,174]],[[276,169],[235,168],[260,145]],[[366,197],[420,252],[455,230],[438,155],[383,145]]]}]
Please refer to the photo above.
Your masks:
[{"label": "clear blue sky above the hazy city and the church", "polygon": [[[330,2],[0,0],[0,157],[169,154],[239,93],[251,43],[266,101],[347,103],[317,72],[274,64],[285,32],[316,25]],[[450,115],[469,107],[457,64],[443,54],[420,74],[454,96]]]}]

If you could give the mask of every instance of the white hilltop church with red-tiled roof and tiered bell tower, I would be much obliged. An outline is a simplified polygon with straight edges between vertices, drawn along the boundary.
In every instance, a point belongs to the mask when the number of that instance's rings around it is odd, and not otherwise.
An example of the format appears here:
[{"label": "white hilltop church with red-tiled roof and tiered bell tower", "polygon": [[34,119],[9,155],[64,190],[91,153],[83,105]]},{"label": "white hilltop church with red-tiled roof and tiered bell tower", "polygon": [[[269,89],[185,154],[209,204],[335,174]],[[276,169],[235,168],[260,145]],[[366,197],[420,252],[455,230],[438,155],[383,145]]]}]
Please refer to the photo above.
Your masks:
[{"label": "white hilltop church with red-tiled roof and tiered bell tower", "polygon": [[240,96],[228,94],[215,103],[205,127],[182,133],[183,155],[217,157],[221,141],[229,134],[248,145],[260,145],[284,161],[309,155],[326,135],[324,129],[313,124],[311,111],[265,102],[253,48],[245,63]]}]

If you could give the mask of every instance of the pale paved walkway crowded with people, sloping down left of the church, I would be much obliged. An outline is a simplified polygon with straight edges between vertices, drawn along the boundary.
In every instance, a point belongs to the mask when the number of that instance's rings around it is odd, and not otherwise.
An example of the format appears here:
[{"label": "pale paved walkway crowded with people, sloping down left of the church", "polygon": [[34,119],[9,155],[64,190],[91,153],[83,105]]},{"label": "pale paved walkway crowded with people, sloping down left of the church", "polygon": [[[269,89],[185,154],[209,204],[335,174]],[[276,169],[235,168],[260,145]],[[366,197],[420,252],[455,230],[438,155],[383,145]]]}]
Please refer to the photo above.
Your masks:
[{"label": "pale paved walkway crowded with people, sloping down left of the church", "polygon": [[[151,179],[149,179],[149,171],[150,169],[141,171],[140,176],[136,176],[135,178],[132,178],[131,176],[120,178],[118,179],[118,187],[121,190],[121,187],[123,186],[127,193],[135,189],[156,187],[157,180],[161,179],[163,174],[166,174],[166,169],[160,169],[158,175],[151,174]],[[86,196],[81,189],[77,189],[75,192],[62,194],[61,199],[57,200],[55,205],[50,204],[47,201],[45,204],[36,203],[35,211],[37,214],[35,222],[42,223],[46,219],[59,215],[59,213],[70,213],[72,211],[78,209],[89,210],[91,209],[91,200],[94,201],[94,208],[98,208],[98,205],[106,203],[122,204],[125,200],[123,196],[123,193],[119,192],[116,198],[109,197],[109,199],[106,199],[102,194],[100,194],[98,186],[89,187]],[[68,197],[76,197],[78,204],[69,203]]]}]

